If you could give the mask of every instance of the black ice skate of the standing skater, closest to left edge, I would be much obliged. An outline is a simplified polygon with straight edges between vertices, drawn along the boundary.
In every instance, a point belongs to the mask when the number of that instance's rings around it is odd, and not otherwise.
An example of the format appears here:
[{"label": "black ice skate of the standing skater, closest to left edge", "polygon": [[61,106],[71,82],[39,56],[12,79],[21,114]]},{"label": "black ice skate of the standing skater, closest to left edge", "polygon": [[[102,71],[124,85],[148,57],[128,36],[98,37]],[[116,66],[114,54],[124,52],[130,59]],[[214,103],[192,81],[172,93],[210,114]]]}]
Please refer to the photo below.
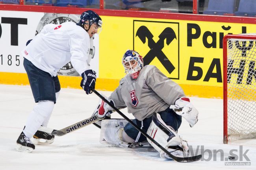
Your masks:
[{"label": "black ice skate of the standing skater, closest to left edge", "polygon": [[35,149],[35,145],[23,132],[20,133],[17,145],[16,150],[19,152],[32,152]]}]

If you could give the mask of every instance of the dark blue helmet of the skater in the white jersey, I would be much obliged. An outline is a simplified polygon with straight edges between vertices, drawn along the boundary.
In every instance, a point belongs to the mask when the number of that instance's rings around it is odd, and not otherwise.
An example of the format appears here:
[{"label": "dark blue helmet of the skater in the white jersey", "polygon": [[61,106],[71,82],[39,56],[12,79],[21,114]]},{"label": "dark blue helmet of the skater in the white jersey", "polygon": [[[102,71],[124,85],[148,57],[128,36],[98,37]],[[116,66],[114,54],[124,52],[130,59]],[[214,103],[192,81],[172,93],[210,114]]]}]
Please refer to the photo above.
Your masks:
[{"label": "dark blue helmet of the skater in the white jersey", "polygon": [[96,14],[92,10],[83,12],[80,16],[80,21],[78,24],[80,24],[80,26],[83,26],[84,24],[86,24],[86,21],[88,21],[89,26],[95,23],[98,27],[102,27],[102,20],[100,16],[98,16],[98,14]]}]

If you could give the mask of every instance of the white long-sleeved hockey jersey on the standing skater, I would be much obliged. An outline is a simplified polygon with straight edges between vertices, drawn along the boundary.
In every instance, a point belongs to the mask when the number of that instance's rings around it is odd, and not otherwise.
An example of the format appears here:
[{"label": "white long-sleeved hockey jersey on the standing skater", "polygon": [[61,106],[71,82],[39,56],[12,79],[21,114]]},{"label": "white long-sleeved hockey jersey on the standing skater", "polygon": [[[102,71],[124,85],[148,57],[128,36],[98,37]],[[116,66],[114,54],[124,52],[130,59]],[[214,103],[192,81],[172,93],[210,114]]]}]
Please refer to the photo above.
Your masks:
[{"label": "white long-sleeved hockey jersey on the standing skater", "polygon": [[37,68],[57,75],[57,71],[71,61],[81,75],[89,69],[90,37],[74,22],[47,24],[22,50],[22,55]]}]

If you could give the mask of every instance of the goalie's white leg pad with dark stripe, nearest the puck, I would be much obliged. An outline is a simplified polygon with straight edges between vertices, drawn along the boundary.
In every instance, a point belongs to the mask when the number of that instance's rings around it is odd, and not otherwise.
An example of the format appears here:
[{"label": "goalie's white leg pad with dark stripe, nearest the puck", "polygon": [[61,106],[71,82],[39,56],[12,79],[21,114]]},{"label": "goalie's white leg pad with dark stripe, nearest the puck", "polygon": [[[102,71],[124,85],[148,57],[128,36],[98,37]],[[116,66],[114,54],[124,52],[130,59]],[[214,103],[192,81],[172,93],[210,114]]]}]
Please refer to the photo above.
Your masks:
[{"label": "goalie's white leg pad with dark stripe, nearest the puck", "polygon": [[[152,122],[147,130],[147,134],[163,146],[163,148],[177,157],[184,157],[188,152],[187,143],[185,144],[178,134],[163,122],[158,113],[152,115]],[[160,157],[171,159],[156,144],[149,139],[147,140],[160,153]]]}]

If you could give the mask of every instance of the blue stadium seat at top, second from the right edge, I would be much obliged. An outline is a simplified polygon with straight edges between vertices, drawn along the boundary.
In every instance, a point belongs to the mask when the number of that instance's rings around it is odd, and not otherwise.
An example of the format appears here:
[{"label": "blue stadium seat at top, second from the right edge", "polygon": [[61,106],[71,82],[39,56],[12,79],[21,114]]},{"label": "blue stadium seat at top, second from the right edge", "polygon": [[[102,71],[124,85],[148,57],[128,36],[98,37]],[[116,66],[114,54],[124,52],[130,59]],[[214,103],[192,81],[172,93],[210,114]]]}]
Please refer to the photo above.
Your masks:
[{"label": "blue stadium seat at top, second from the right edge", "polygon": [[236,0],[209,0],[208,9],[203,14],[206,15],[224,15],[234,14],[236,9]]}]

